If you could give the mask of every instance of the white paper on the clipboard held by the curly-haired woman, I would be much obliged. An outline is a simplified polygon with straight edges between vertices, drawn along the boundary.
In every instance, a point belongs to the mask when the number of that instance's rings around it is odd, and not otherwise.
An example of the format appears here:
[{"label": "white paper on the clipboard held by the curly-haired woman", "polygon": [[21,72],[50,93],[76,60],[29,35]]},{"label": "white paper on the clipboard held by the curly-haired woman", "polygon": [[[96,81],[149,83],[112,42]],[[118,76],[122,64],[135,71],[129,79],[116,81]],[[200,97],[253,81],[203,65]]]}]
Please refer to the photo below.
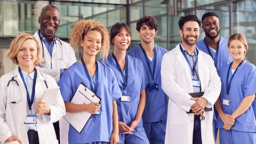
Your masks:
[{"label": "white paper on the clipboard held by the curly-haired woman", "polygon": [[[78,86],[76,93],[71,100],[71,103],[75,103],[77,105],[88,104],[91,102],[99,103],[101,98],[98,97],[93,91],[89,89],[83,82]],[[81,133],[84,129],[84,126],[88,122],[89,118],[92,114],[88,113],[87,111],[82,111],[79,113],[68,113],[63,116],[69,124],[71,124],[77,132]]]}]

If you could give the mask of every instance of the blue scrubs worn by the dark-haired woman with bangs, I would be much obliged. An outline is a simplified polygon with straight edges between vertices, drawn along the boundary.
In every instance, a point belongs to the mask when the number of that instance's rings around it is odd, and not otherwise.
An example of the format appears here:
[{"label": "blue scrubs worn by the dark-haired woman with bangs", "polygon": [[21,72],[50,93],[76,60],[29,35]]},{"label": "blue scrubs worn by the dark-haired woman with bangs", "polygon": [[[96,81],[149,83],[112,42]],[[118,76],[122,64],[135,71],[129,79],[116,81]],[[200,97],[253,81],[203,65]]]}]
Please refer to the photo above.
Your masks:
[{"label": "blue scrubs worn by the dark-haired woman with bangs", "polygon": [[[131,123],[135,120],[137,115],[138,106],[140,102],[140,92],[145,89],[148,84],[148,77],[145,71],[145,68],[142,65],[142,62],[133,58],[130,55],[126,55],[126,65],[128,63],[128,77],[127,77],[127,86],[124,93],[124,81],[120,71],[117,68],[115,59],[109,54],[107,58],[107,66],[110,67],[116,76],[118,85],[125,95],[130,96],[130,102],[121,101],[121,99],[116,100],[117,110],[118,110],[118,121],[125,123],[127,126],[130,126]],[[105,61],[102,59],[99,60],[103,64]],[[118,64],[119,65],[119,64]],[[127,69],[122,71],[125,76]],[[119,133],[119,143],[149,143],[147,135],[143,128],[142,118],[140,123],[136,126],[133,134],[121,134]]]}]

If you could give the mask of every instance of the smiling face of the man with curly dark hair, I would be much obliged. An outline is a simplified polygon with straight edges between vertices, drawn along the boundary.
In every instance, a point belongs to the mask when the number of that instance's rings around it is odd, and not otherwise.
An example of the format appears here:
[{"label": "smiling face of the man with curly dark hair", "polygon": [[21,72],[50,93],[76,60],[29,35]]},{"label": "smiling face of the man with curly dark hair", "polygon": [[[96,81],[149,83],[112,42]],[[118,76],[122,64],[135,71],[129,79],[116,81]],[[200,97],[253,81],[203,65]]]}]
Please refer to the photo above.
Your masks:
[{"label": "smiling face of the man with curly dark hair", "polygon": [[141,38],[141,42],[151,43],[154,42],[154,37],[156,36],[157,30],[150,28],[147,25],[143,25],[140,31],[137,30],[138,35]]}]

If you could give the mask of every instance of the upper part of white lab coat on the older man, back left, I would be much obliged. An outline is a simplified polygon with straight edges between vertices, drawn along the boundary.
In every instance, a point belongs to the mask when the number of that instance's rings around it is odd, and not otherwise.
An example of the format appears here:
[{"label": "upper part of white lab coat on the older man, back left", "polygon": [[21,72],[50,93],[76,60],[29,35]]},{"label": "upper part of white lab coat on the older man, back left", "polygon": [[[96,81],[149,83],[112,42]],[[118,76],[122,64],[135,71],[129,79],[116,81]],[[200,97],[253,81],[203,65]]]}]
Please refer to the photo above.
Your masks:
[{"label": "upper part of white lab coat on the older man, back left", "polygon": [[[43,41],[41,43],[37,31],[33,36],[37,39],[41,47],[40,54],[43,57],[43,49],[42,49]],[[70,46],[70,44],[61,40],[60,40],[61,43],[59,41],[55,41],[55,42],[52,50],[52,58],[46,46],[43,43],[44,59],[46,60],[46,62],[45,63],[39,62],[39,65],[42,68],[38,68],[38,69],[42,73],[51,75],[52,77],[54,77],[55,81],[58,82],[60,80],[60,69],[67,69],[68,67],[72,66],[73,63],[75,63],[77,60],[76,60],[75,52],[73,48]],[[51,69],[51,62],[52,62],[52,69]]]}]

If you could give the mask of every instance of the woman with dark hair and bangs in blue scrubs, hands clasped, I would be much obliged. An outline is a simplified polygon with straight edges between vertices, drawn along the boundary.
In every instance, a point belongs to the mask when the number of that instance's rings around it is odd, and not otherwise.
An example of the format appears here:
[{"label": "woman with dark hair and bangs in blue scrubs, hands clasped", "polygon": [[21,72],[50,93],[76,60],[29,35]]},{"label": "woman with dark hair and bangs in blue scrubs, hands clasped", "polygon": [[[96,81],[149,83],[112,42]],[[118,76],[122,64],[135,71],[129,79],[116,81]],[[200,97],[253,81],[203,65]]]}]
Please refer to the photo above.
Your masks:
[{"label": "woman with dark hair and bangs in blue scrubs, hands clasped", "polygon": [[113,69],[122,97],[117,103],[119,143],[149,143],[143,128],[142,113],[145,108],[148,78],[142,62],[126,54],[131,42],[131,30],[125,23],[116,23],[110,30],[113,53],[105,63]]}]

